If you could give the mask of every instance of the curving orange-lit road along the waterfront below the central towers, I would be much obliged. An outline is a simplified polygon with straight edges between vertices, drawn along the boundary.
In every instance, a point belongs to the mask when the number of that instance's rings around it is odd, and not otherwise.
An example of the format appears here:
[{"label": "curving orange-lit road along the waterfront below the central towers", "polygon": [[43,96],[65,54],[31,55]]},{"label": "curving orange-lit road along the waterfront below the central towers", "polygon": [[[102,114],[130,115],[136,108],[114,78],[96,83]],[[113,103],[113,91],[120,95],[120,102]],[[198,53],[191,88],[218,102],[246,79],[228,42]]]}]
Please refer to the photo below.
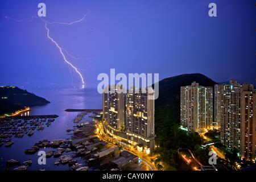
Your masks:
[{"label": "curving orange-lit road along the waterfront below the central towers", "polygon": [[148,156],[142,152],[133,150],[128,144],[120,142],[117,139],[108,137],[108,135],[105,134],[102,123],[98,123],[97,134],[98,134],[98,137],[101,140],[104,140],[105,142],[111,141],[113,143],[113,141],[114,141],[115,143],[121,144],[121,146],[125,146],[126,148],[123,148],[123,150],[129,151],[129,152],[131,152],[131,154],[137,155],[142,160],[142,162],[144,162],[151,169],[151,171],[157,170],[156,167],[154,166],[154,164],[152,164],[150,162],[150,160],[155,159],[156,156],[153,156],[150,158],[150,156]]}]

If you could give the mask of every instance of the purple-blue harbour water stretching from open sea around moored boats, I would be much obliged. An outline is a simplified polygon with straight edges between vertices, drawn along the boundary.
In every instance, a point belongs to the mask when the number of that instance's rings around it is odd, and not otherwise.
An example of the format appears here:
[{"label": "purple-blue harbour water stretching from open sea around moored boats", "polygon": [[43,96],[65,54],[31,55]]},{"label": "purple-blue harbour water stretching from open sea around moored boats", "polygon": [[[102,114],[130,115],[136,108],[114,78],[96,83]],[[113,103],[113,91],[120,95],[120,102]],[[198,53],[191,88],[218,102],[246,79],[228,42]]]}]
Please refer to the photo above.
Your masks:
[{"label": "purple-blue harbour water stretching from open sea around moored boats", "polygon": [[[58,158],[47,158],[46,165],[39,165],[39,156],[26,155],[24,150],[31,148],[35,143],[42,139],[68,139],[71,137],[66,130],[73,129],[76,124],[72,119],[80,112],[67,112],[65,109],[102,109],[102,96],[97,92],[97,89],[76,89],[76,88],[52,88],[52,89],[27,89],[37,96],[46,98],[51,104],[44,106],[31,107],[29,115],[44,115],[44,114],[57,114],[58,118],[49,127],[44,127],[44,130],[35,130],[34,135],[28,137],[24,135],[22,138],[13,137],[11,140],[14,144],[11,147],[0,147],[0,170],[5,170],[5,163],[9,159],[19,160],[24,162],[32,159],[32,165],[28,170],[68,170],[68,165],[55,166],[54,162]],[[88,117],[88,115],[86,116]],[[86,118],[87,119],[87,118]],[[91,118],[88,117],[88,120]],[[52,150],[52,148],[45,148],[45,151]],[[56,150],[56,149],[55,149]],[[63,155],[72,155],[72,152]],[[78,159],[78,162],[84,163]],[[17,167],[17,166],[16,166]]]}]

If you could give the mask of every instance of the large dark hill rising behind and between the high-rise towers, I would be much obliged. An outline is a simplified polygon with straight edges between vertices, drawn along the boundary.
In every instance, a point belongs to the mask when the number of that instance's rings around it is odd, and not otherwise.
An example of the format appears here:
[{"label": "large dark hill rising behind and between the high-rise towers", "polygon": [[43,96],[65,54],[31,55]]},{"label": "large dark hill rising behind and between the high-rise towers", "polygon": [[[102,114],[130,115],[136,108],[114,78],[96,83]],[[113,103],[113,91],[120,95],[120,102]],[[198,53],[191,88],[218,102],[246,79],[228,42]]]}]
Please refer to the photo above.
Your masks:
[{"label": "large dark hill rising behind and between the high-rise towers", "polygon": [[168,133],[172,125],[180,123],[180,86],[191,85],[193,81],[202,86],[213,86],[217,82],[201,73],[184,74],[159,81],[159,97],[155,101],[156,139]]}]

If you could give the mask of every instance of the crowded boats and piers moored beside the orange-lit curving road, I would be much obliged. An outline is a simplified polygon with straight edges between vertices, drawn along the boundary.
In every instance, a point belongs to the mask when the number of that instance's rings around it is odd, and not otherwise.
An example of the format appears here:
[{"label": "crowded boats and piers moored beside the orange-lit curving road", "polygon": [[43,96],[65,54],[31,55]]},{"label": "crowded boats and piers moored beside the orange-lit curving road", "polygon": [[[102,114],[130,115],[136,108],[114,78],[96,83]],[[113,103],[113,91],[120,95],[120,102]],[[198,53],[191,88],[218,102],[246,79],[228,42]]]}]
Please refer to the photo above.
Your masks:
[{"label": "crowded boats and piers moored beside the orange-lit curving road", "polygon": [[[137,156],[130,154],[131,156],[126,157],[122,152],[120,153],[119,147],[101,141],[95,135],[97,120],[93,118],[88,121],[86,115],[89,115],[89,113],[82,112],[73,119],[79,122],[73,122],[77,123],[77,125],[73,126],[74,130],[71,138],[39,140],[31,148],[24,150],[24,154],[36,155],[39,150],[47,150],[47,160],[55,158],[53,165],[67,166],[69,170],[73,171],[98,170],[102,169],[103,166],[106,169],[116,171],[131,161],[133,163],[138,161]],[[38,119],[37,121],[46,122],[47,119]],[[41,123],[40,126],[42,126]],[[68,130],[66,132],[69,133],[71,131]],[[30,168],[32,160],[24,161],[20,165],[18,160],[11,159],[7,164],[8,167],[14,167],[14,171],[26,171]]]}]

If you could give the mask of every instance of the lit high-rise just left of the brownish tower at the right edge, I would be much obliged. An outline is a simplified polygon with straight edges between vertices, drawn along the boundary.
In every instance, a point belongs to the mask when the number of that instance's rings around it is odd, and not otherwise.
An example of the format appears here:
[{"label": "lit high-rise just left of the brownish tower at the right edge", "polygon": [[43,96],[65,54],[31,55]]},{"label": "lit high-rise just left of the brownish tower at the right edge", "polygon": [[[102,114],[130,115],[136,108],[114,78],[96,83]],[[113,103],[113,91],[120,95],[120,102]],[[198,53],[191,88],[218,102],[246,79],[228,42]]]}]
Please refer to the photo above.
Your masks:
[{"label": "lit high-rise just left of the brownish tower at the right edge", "polygon": [[221,142],[229,148],[240,150],[240,89],[237,81],[214,86],[214,116],[220,126]]}]

